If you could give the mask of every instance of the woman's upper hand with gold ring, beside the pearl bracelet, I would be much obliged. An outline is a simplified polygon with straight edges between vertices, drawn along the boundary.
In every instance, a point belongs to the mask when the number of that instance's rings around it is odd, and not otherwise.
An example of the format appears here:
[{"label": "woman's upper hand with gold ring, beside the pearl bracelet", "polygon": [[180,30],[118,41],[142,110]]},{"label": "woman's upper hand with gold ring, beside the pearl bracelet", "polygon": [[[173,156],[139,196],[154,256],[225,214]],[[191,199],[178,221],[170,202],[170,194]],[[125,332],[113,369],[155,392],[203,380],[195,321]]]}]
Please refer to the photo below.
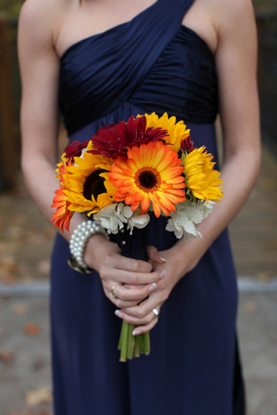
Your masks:
[{"label": "woman's upper hand with gold ring, beside the pearl bracelet", "polygon": [[99,273],[106,296],[117,308],[137,305],[164,277],[163,272],[152,272],[150,262],[123,257],[118,245],[101,234],[88,240],[84,262]]}]

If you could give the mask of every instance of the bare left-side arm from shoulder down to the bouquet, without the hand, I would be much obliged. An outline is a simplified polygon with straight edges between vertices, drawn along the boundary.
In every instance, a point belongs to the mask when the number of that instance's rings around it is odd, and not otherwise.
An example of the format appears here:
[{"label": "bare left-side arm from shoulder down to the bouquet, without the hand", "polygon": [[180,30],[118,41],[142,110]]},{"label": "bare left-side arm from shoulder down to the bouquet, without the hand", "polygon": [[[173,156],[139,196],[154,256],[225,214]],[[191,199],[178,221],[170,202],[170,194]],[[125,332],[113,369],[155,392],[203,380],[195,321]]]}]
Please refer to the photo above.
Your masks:
[{"label": "bare left-side arm from shoulder down to the bouquet, without the hand", "polygon": [[21,11],[18,49],[22,79],[22,169],[28,190],[50,220],[57,159],[58,58],[42,7],[27,1]]}]

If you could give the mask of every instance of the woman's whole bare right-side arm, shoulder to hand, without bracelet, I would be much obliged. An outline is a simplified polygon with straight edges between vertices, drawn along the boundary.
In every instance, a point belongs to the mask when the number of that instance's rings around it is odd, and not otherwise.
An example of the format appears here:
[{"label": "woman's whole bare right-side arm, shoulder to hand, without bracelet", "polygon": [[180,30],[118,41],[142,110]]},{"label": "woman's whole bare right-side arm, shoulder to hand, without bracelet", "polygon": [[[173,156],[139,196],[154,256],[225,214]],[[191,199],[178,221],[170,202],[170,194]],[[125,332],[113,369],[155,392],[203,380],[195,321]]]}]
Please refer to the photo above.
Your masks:
[{"label": "woman's whole bare right-side arm, shoulder to hand, without bracelet", "polygon": [[120,312],[119,316],[134,324],[144,317],[145,326],[136,329],[137,333],[153,327],[151,310],[164,303],[173,286],[194,268],[230,223],[248,198],[259,171],[257,47],[251,1],[215,0],[211,3],[215,5],[214,26],[218,38],[216,64],[224,141],[224,199],[222,203],[216,204],[214,212],[201,223],[202,238],[191,239],[189,242],[180,240],[171,249],[161,252],[167,262],[156,265],[155,269],[164,269],[166,277],[158,283],[157,290],[149,299],[140,305],[139,311],[129,308]]}]

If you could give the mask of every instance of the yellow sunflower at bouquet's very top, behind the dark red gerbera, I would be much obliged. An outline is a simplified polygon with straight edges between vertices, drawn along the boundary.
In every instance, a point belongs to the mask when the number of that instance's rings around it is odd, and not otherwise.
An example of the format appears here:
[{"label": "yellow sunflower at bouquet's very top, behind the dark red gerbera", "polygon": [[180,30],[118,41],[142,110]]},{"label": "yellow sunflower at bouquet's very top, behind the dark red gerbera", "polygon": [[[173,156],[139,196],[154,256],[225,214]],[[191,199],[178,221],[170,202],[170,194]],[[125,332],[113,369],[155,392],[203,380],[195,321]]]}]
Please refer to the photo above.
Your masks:
[{"label": "yellow sunflower at bouquet's very top, behind the dark red gerbera", "polygon": [[[172,149],[178,153],[182,146],[184,140],[190,139],[190,131],[187,129],[187,126],[184,124],[184,121],[179,121],[176,123],[176,117],[168,118],[167,113],[165,112],[162,117],[158,117],[155,112],[152,114],[144,114],[146,117],[147,128],[162,128],[167,130],[168,136],[164,137],[166,143],[170,143]],[[140,117],[140,115],[138,115]]]}]

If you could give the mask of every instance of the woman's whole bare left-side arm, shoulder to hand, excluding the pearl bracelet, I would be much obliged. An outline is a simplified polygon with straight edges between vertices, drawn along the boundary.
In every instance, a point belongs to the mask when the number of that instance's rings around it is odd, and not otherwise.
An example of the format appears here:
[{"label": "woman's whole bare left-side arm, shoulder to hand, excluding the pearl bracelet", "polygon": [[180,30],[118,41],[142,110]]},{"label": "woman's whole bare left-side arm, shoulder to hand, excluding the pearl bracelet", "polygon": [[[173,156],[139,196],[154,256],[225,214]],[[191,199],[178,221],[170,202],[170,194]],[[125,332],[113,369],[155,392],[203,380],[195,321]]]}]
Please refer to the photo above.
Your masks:
[{"label": "woman's whole bare left-side arm, shoulder to hand, excluding the pearl bracelet", "polygon": [[[55,22],[55,11],[55,0],[27,0],[20,15],[18,33],[22,78],[22,170],[29,193],[49,221],[58,186],[55,167],[59,58],[55,52],[52,23],[49,23]],[[82,221],[80,215],[74,215],[70,233],[65,232],[63,236],[69,240]],[[127,288],[117,287],[118,307],[137,304],[155,288],[152,283],[160,280],[160,271],[151,272],[150,263],[122,257],[117,245],[100,234],[90,238],[85,255],[87,263],[99,271],[104,291],[113,302],[113,285],[145,284],[128,292]]]}]

